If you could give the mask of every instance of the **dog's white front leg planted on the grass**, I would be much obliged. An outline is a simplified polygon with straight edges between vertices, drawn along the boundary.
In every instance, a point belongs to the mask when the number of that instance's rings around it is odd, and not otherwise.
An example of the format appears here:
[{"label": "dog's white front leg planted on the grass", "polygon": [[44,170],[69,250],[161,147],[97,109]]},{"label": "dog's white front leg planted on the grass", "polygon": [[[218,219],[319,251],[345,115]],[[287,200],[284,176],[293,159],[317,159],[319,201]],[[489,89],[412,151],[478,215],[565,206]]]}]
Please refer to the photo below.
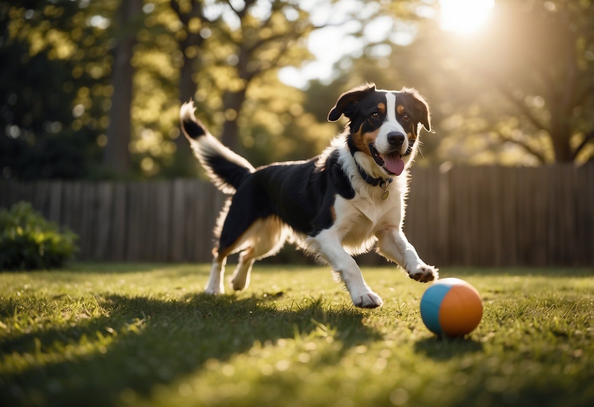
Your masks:
[{"label": "dog's white front leg planted on the grass", "polygon": [[365,283],[361,269],[355,259],[345,252],[336,231],[323,230],[315,237],[310,237],[308,243],[315,253],[325,260],[349,290],[353,304],[361,308],[375,308],[381,306],[381,297]]}]

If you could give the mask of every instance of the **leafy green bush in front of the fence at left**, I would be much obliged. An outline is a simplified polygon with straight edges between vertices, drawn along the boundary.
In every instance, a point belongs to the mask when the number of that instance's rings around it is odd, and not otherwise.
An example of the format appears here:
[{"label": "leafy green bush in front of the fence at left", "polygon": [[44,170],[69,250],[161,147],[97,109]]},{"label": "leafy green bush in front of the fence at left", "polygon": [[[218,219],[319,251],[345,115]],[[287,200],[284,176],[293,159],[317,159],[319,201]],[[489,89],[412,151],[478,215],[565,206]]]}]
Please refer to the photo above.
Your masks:
[{"label": "leafy green bush in front of the fence at left", "polygon": [[29,202],[0,209],[0,270],[60,267],[78,250],[78,236],[47,221]]}]

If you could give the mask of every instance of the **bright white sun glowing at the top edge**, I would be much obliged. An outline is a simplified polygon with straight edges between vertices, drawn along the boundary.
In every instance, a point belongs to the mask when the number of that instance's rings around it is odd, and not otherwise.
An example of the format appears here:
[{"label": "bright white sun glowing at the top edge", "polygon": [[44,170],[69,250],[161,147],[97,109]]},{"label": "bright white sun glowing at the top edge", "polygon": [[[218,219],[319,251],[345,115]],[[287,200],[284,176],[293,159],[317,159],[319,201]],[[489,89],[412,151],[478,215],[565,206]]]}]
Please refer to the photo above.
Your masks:
[{"label": "bright white sun glowing at the top edge", "polygon": [[478,31],[491,15],[495,0],[440,0],[440,27],[444,31]]}]

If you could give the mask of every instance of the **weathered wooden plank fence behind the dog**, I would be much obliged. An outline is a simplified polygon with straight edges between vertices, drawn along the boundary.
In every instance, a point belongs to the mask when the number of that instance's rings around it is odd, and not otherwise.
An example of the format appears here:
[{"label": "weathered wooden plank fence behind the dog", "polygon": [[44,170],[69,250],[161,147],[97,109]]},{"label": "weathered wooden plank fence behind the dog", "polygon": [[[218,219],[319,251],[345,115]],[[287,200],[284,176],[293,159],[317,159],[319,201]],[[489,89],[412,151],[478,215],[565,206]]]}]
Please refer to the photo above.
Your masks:
[{"label": "weathered wooden plank fence behind the dog", "polygon": [[[405,233],[428,263],[594,266],[594,165],[413,168],[410,186]],[[81,260],[208,262],[225,196],[189,179],[0,183],[0,206],[18,201],[74,230]]]}]

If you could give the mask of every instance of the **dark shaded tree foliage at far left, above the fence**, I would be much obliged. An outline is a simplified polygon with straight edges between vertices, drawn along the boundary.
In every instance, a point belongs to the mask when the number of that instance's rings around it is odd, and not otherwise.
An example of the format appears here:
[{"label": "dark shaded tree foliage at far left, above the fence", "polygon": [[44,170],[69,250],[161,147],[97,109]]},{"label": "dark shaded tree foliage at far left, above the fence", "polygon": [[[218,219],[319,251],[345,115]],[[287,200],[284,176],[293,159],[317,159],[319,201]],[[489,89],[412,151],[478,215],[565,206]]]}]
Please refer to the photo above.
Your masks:
[{"label": "dark shaded tree foliage at far left, above the fence", "polygon": [[93,12],[69,1],[0,2],[4,177],[72,179],[96,171],[105,65],[94,42],[103,29],[86,24]]}]

